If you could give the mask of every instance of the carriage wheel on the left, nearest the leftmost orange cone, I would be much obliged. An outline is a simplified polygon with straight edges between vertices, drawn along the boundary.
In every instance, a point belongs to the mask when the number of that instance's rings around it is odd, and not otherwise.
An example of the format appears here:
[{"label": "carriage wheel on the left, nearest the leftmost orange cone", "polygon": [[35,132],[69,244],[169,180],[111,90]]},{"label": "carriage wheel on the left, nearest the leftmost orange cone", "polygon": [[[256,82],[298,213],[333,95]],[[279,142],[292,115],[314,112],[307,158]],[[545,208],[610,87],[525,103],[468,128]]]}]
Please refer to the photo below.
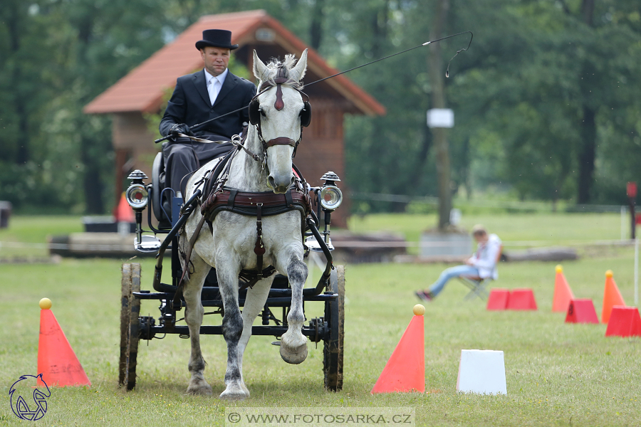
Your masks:
[{"label": "carriage wheel on the left, nearest the leftmost orange cone", "polygon": [[123,264],[122,295],[120,297],[120,365],[118,384],[127,391],[136,386],[136,357],[140,330],[140,300],[132,292],[140,291],[140,264]]}]

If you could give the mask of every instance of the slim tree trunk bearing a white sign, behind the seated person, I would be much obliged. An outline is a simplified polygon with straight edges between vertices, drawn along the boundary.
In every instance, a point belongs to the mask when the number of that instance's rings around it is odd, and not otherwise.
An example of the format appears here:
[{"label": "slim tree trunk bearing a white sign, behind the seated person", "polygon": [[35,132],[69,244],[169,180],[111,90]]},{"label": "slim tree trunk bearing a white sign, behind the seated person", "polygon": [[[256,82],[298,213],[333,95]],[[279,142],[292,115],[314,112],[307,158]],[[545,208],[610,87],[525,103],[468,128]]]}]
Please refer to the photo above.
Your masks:
[{"label": "slim tree trunk bearing a white sign, behind the seated person", "polygon": [[[434,14],[430,40],[441,38],[444,22],[447,19],[449,0],[437,0],[437,10]],[[429,45],[428,56],[429,81],[432,83],[432,108],[445,107],[445,87],[443,81],[443,58],[441,45]],[[436,149],[437,176],[439,185],[439,230],[444,231],[449,225],[449,211],[452,209],[452,190],[450,189],[449,147],[446,130],[442,127],[432,128],[434,149]]]}]

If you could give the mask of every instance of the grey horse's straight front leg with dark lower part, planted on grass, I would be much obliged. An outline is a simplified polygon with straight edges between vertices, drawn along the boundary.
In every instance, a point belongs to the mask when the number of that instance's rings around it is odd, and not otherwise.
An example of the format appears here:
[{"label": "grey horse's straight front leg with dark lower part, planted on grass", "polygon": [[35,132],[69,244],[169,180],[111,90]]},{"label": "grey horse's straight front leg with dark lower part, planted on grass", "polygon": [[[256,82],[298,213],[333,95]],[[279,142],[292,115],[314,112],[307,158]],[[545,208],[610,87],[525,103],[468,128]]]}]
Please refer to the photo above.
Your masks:
[{"label": "grey horse's straight front leg with dark lower part, planted on grass", "polygon": [[239,357],[239,340],[243,333],[243,318],[238,307],[239,262],[229,259],[230,252],[222,251],[223,255],[216,258],[216,273],[225,313],[222,332],[227,344],[226,388],[220,394],[220,399],[241,400],[249,397],[249,390],[243,381]]}]

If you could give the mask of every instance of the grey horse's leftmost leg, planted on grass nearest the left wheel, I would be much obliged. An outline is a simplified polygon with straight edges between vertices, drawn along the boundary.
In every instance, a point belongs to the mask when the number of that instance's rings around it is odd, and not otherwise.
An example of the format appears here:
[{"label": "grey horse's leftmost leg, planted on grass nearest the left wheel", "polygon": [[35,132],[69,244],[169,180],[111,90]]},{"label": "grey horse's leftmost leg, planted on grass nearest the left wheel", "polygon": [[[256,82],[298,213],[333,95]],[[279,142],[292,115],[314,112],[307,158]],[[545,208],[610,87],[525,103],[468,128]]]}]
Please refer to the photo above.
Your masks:
[{"label": "grey horse's leftmost leg, planted on grass nearest the left wheel", "polygon": [[189,326],[189,341],[192,344],[192,354],[189,357],[188,365],[192,377],[189,379],[187,394],[212,394],[212,387],[204,379],[205,361],[200,349],[200,326],[204,313],[200,294],[204,280],[212,267],[195,252],[192,253],[192,263],[194,272],[190,275],[189,281],[184,283],[183,289],[184,302],[187,305],[184,320]]}]

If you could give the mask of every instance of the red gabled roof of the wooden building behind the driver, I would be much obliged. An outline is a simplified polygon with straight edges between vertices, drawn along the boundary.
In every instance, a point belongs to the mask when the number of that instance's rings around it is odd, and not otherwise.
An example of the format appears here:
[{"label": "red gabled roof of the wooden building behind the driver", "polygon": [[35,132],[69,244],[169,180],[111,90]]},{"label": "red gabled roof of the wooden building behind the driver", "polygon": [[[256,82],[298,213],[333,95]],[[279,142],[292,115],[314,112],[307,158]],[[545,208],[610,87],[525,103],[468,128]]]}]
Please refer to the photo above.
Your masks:
[{"label": "red gabled roof of the wooden building behind the driver", "polygon": [[[202,38],[203,30],[221,28],[232,31],[231,43],[242,46],[254,40],[254,33],[259,27],[273,29],[276,33],[275,43],[296,56],[300,56],[308,47],[263,10],[202,16],[176,40],[161,48],[118,80],[115,85],[85,105],[83,111],[87,114],[155,112],[162,105],[165,90],[173,88],[179,76],[192,73],[202,67],[202,59],[194,44]],[[308,51],[307,67],[321,78],[338,73],[338,70],[325,63],[325,60],[311,48]],[[330,85],[336,92],[350,100],[364,114],[385,114],[385,107],[345,75],[338,75],[323,83]]]}]

